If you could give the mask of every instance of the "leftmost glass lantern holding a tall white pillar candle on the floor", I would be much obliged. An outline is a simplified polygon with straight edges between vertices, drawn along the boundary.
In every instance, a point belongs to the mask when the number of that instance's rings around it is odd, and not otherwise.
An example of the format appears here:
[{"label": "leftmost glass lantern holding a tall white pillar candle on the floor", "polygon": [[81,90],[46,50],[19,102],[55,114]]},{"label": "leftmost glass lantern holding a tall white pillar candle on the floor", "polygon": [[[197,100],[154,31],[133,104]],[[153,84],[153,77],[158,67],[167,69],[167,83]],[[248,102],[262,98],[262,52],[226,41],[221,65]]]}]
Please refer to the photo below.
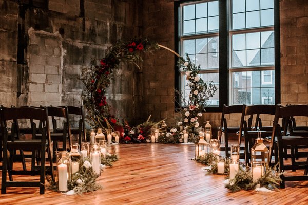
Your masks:
[{"label": "leftmost glass lantern holding a tall white pillar candle on the floor", "polygon": [[57,180],[60,192],[67,192],[68,186],[67,182],[70,180],[71,176],[71,163],[68,158],[68,153],[66,151],[61,151],[56,153],[57,156]]}]

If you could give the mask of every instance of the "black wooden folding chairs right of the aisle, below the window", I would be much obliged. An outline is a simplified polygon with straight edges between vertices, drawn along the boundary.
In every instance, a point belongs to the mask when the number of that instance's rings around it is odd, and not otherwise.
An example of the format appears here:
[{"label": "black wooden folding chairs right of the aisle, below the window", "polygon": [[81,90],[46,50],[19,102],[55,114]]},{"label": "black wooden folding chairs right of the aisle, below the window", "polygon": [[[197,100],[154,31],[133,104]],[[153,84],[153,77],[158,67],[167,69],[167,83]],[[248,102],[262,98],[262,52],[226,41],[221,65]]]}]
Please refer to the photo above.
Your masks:
[{"label": "black wooden folding chairs right of the aisle, below the window", "polygon": [[[233,119],[232,115],[238,117],[239,114],[241,114],[240,126],[229,127],[227,119]],[[226,118],[226,115],[229,115],[229,118]],[[282,175],[280,187],[284,188],[285,181],[308,180],[308,152],[303,150],[308,146],[308,126],[296,126],[295,120],[301,116],[308,117],[308,105],[224,105],[218,139],[221,140],[224,134],[227,157],[230,150],[229,136],[237,136],[240,147],[244,139],[244,147],[240,148],[244,150],[244,155],[241,154],[240,158],[244,158],[245,163],[249,164],[251,147],[255,139],[261,135],[269,143],[269,165],[278,163],[280,170],[304,170],[302,176]],[[273,126],[263,126],[262,118],[271,119]],[[300,149],[304,152],[299,152]],[[301,157],[306,158],[306,161],[296,161]],[[291,158],[291,165],[284,164],[284,160],[288,158]]]}]

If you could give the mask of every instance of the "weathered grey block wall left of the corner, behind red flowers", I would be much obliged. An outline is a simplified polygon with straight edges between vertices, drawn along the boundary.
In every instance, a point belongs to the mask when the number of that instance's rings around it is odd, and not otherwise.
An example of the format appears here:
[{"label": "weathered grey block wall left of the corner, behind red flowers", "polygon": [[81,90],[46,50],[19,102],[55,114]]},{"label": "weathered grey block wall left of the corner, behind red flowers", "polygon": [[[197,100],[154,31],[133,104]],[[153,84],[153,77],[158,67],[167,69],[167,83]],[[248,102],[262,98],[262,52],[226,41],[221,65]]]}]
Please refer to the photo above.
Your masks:
[{"label": "weathered grey block wall left of the corner, behind red flowers", "polygon": [[[80,105],[81,67],[117,40],[139,36],[139,7],[124,0],[0,0],[0,104]],[[131,106],[139,71],[123,67],[108,102],[131,120],[140,113]]]}]

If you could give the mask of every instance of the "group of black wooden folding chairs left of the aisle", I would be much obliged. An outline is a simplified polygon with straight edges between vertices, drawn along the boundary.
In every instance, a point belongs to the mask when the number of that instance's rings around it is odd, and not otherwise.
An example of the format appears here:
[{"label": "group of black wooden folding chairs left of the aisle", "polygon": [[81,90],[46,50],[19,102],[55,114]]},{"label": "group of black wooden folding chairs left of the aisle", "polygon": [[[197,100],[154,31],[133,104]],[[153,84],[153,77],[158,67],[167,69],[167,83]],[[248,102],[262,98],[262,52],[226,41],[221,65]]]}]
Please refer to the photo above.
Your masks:
[{"label": "group of black wooden folding chairs left of the aisle", "polygon": [[[86,141],[83,106],[1,107],[0,114],[2,129],[0,141],[3,143],[1,193],[5,194],[7,187],[40,187],[40,194],[44,194],[45,174],[49,174],[54,180],[54,151],[67,150],[67,140],[71,145],[72,134],[78,135],[79,144],[82,140]],[[78,127],[71,127],[69,117],[73,116],[79,116]],[[49,127],[49,118],[52,121],[52,132]],[[59,122],[63,122],[62,127]],[[30,139],[29,135],[31,135]],[[62,142],[62,148],[59,147],[58,142]],[[20,152],[23,170],[13,169],[17,150]],[[27,170],[24,151],[31,152],[31,170]],[[50,163],[48,167],[45,167],[46,152]],[[9,181],[7,181],[7,173]],[[40,181],[13,181],[13,175],[40,175]]]}]

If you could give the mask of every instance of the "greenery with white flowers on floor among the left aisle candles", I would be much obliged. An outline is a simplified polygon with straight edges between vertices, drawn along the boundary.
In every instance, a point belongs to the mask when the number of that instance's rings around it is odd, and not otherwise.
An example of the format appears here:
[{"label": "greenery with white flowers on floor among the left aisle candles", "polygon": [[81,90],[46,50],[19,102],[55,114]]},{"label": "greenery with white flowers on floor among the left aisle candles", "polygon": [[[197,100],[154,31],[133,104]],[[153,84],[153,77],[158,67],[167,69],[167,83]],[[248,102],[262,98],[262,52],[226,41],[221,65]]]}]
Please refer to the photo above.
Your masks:
[{"label": "greenery with white flowers on floor among the left aisle candles", "polygon": [[[109,154],[106,152],[106,159],[101,156],[101,171],[104,169],[104,166],[113,166],[113,162],[118,161],[119,157],[117,154]],[[96,182],[99,175],[93,173],[91,159],[84,158],[82,163],[79,166],[79,171],[71,175],[71,179],[68,180],[68,192],[66,194],[73,195],[78,194],[82,195],[88,192],[94,192],[101,190],[102,185]],[[52,181],[51,177],[47,177],[49,182],[47,188],[52,191],[59,192],[59,185],[57,181]]]}]

